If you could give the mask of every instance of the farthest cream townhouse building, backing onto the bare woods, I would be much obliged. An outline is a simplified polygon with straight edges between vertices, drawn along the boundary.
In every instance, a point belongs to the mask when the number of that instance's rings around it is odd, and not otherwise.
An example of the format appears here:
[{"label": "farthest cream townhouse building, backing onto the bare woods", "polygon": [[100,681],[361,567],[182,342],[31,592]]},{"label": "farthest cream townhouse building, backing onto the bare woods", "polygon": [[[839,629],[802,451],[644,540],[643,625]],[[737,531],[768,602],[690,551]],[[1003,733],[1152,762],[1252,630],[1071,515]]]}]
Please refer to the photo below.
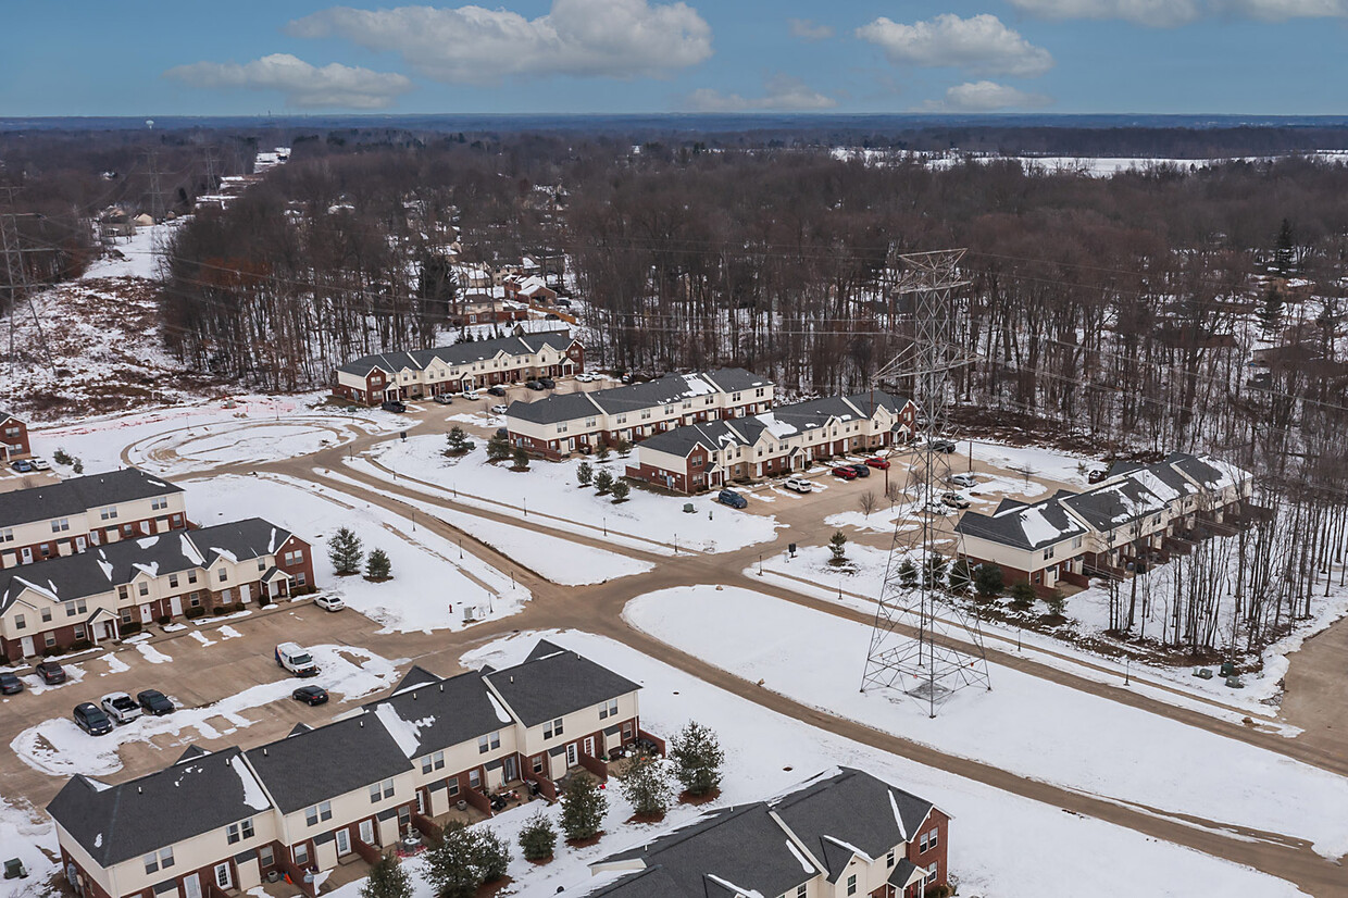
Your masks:
[{"label": "farthest cream townhouse building, backing onto the bare woods", "polygon": [[333,372],[333,395],[377,406],[394,399],[562,378],[584,369],[585,347],[569,332],[519,330],[496,340],[363,356]]}]

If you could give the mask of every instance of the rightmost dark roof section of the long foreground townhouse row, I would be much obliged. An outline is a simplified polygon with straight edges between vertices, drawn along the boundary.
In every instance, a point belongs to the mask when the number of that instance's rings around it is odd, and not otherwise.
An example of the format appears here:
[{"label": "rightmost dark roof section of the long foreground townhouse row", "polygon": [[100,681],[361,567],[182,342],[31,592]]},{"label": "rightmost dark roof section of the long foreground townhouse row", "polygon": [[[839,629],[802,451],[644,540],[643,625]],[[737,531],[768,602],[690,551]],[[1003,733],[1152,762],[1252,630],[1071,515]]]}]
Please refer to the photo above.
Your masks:
[{"label": "rightmost dark roof section of the long foreground townhouse row", "polygon": [[640,689],[627,677],[546,639],[527,661],[493,670],[487,680],[526,727]]}]

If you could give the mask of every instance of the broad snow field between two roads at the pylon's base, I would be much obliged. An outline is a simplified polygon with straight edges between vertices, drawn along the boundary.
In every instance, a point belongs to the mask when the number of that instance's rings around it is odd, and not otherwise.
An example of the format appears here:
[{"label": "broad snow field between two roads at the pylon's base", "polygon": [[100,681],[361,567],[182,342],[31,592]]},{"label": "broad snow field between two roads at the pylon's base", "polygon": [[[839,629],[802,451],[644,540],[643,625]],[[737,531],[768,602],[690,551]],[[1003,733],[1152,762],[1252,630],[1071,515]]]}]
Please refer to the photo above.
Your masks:
[{"label": "broad snow field between two roads at the pylon's base", "polygon": [[624,618],[751,682],[946,752],[1107,800],[1302,837],[1326,858],[1348,854],[1348,779],[1243,742],[998,665],[991,692],[960,692],[929,720],[902,694],[859,692],[869,627],[744,589],[655,592]]}]

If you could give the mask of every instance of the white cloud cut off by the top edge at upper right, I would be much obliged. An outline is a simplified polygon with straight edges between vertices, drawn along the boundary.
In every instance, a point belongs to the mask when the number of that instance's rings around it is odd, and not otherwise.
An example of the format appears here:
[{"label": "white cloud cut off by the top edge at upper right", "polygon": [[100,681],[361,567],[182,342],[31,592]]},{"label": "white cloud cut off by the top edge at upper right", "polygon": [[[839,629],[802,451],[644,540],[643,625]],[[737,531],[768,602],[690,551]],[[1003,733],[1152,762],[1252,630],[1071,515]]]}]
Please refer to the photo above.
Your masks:
[{"label": "white cloud cut off by the top edge at upper right", "polygon": [[1123,19],[1173,28],[1196,19],[1229,15],[1268,22],[1348,16],[1348,0],[1010,0],[1045,19]]}]

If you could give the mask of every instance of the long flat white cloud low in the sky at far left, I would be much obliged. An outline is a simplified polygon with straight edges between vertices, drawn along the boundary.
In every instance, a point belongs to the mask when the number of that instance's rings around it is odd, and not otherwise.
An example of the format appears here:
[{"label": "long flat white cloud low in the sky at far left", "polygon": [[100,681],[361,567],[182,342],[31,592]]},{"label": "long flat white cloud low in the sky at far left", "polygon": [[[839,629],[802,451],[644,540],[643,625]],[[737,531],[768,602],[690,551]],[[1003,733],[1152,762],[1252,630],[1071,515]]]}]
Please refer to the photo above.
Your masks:
[{"label": "long flat white cloud low in the sky at far left", "polygon": [[288,53],[274,53],[247,63],[195,62],[177,66],[164,77],[195,88],[279,90],[295,109],[383,109],[412,82],[394,71],[372,71],[333,62],[313,66]]}]

